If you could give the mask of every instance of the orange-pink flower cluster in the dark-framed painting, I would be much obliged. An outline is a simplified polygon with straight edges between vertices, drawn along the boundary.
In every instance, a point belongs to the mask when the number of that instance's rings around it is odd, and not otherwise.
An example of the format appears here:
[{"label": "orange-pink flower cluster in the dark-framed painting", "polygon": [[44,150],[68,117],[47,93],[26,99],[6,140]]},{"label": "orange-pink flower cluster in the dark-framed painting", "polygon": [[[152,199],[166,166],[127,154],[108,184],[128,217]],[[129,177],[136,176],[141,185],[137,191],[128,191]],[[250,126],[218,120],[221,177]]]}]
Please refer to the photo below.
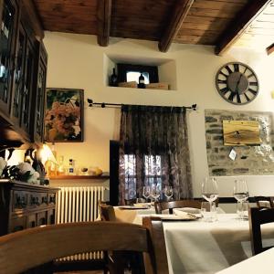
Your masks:
[{"label": "orange-pink flower cluster in the dark-framed painting", "polygon": [[64,102],[53,100],[47,109],[45,124],[47,141],[78,140],[80,135],[80,107],[77,96]]}]

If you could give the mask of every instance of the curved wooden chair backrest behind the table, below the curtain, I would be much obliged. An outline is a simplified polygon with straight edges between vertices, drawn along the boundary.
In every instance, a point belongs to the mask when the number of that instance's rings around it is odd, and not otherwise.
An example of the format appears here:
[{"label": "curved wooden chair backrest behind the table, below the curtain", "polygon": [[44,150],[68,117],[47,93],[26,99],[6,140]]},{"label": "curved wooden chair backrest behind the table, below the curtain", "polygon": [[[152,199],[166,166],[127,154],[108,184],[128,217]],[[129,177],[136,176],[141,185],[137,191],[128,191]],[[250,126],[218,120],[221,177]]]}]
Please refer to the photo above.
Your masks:
[{"label": "curved wooden chair backrest behind the table, below the curtain", "polygon": [[174,208],[179,207],[195,207],[201,208],[202,201],[200,200],[178,200],[169,202],[155,202],[154,207],[157,214],[161,214],[163,210],[169,209],[170,213],[173,213]]}]

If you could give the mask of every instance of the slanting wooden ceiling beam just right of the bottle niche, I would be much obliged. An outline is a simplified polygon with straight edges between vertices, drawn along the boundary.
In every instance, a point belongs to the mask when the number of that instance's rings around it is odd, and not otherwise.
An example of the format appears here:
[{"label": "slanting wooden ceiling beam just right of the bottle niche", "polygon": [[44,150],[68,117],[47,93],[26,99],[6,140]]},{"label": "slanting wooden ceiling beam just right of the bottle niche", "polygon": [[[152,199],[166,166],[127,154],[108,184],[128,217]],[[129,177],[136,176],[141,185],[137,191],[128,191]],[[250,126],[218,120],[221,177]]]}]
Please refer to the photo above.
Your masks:
[{"label": "slanting wooden ceiling beam just right of the bottle niche", "polygon": [[162,52],[168,51],[179,29],[184,23],[185,16],[188,14],[194,0],[180,0],[175,5],[174,14],[171,17],[170,24],[166,27],[161,37],[158,47]]}]

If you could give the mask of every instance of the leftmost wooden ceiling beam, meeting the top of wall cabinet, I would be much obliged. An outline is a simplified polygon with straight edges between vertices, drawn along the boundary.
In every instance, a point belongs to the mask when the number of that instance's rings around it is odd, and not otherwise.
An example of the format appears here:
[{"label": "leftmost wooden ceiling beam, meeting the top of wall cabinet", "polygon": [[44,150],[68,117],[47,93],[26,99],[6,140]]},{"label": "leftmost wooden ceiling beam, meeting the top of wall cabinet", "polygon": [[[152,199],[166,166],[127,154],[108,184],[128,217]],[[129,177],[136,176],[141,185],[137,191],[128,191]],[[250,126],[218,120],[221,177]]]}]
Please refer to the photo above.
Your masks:
[{"label": "leftmost wooden ceiling beam, meeting the top of wall cabinet", "polygon": [[40,16],[38,16],[37,8],[33,3],[33,0],[23,0],[23,14],[26,16],[27,20],[29,20],[37,39],[43,40],[45,37],[44,27],[41,21]]}]

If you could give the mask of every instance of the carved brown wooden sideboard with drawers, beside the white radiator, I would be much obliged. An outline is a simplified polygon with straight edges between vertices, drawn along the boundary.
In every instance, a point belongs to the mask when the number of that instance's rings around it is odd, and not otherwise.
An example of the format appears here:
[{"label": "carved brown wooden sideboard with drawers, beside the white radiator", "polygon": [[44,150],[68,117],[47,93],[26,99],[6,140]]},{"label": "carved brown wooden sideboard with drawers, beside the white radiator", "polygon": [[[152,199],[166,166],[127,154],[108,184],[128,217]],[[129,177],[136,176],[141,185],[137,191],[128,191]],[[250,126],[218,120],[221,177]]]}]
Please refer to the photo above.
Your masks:
[{"label": "carved brown wooden sideboard with drawers, beside the white radiator", "polygon": [[0,179],[0,236],[55,223],[58,188]]}]

